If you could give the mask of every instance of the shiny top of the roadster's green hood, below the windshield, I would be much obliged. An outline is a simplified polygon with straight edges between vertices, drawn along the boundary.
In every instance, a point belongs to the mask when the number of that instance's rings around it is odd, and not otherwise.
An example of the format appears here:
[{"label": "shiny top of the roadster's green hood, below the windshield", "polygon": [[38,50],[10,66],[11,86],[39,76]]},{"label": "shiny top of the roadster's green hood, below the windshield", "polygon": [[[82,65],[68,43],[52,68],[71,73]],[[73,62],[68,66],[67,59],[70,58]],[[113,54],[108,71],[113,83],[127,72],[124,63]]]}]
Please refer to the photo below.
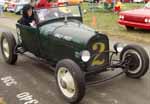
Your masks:
[{"label": "shiny top of the roadster's green hood, below the windshield", "polygon": [[73,42],[86,45],[93,36],[95,31],[86,25],[78,22],[55,22],[42,26],[40,32],[44,35],[61,34],[71,37]]}]

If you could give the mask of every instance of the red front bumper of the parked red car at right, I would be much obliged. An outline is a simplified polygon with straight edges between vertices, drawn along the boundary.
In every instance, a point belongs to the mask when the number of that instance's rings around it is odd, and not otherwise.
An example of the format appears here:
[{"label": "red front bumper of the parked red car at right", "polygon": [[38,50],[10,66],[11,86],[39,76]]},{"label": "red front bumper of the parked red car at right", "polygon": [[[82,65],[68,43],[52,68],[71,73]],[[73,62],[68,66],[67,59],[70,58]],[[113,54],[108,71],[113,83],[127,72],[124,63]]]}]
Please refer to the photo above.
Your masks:
[{"label": "red front bumper of the parked red car at right", "polygon": [[136,28],[142,28],[150,30],[150,24],[146,23],[137,23],[137,22],[131,22],[131,21],[124,21],[124,20],[118,20],[118,23],[125,26],[132,26]]}]

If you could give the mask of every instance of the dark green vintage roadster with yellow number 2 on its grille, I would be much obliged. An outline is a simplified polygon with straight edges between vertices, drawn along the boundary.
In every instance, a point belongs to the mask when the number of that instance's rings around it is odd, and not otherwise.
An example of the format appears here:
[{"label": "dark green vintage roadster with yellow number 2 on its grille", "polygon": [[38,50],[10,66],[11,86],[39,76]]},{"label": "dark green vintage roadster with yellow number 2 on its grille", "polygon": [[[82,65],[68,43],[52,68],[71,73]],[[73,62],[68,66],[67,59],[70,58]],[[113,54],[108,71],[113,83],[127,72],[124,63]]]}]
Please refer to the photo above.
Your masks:
[{"label": "dark green vintage roadster with yellow number 2 on its grille", "polygon": [[[107,35],[83,24],[79,5],[38,9],[34,15],[36,27],[16,24],[17,40],[9,31],[2,33],[2,55],[8,64],[15,64],[25,52],[46,60],[55,67],[58,89],[69,103],[84,97],[86,85],[101,82],[88,83],[85,79],[90,75],[119,68],[131,78],[140,78],[149,69],[149,57],[138,45],[116,43],[110,51]],[[119,58],[113,60],[113,55]]]}]

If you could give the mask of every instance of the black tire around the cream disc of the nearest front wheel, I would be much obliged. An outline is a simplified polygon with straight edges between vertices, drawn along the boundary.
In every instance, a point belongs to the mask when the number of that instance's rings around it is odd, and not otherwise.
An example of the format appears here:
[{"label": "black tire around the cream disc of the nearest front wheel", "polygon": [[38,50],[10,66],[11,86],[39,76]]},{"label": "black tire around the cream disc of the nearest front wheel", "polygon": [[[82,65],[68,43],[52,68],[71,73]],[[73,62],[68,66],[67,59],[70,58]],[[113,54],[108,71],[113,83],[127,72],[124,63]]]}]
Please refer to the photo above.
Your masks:
[{"label": "black tire around the cream disc of the nearest front wheel", "polygon": [[[70,72],[70,74],[73,77],[74,84],[75,84],[75,93],[71,97],[68,97],[65,95],[65,93],[63,93],[61,89],[63,85],[61,85],[60,87],[60,83],[62,81],[59,83],[58,73],[61,70],[61,68],[67,68],[68,72]],[[70,59],[64,59],[58,62],[58,64],[56,65],[56,80],[57,80],[57,86],[59,88],[59,91],[61,92],[62,96],[67,102],[75,104],[82,100],[82,98],[85,95],[85,78],[84,78],[84,73],[81,71],[80,67],[75,62],[73,62]],[[65,85],[67,86],[66,83]]]}]

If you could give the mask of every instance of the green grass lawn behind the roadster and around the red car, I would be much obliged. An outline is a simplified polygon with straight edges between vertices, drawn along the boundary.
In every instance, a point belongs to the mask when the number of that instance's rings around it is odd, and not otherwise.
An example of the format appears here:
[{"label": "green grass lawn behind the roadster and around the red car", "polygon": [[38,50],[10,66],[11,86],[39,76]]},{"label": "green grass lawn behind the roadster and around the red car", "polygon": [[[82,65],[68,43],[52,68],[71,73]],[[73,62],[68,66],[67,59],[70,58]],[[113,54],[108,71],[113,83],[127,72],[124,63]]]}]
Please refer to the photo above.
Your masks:
[{"label": "green grass lawn behind the roadster and around the red car", "polygon": [[[84,14],[84,23],[92,27],[92,18],[93,16],[95,16],[96,26],[93,28],[95,28],[97,31],[106,33],[109,37],[117,37],[119,39],[123,38],[131,41],[150,43],[150,31],[140,29],[127,31],[125,27],[120,26],[117,23],[118,15],[110,11],[103,10],[102,6],[103,5],[100,5],[100,8],[97,9],[95,12],[88,11],[86,14]],[[122,10],[140,8],[143,6],[143,3],[125,3],[123,4]],[[82,10],[89,10],[88,3],[82,3],[81,7]],[[12,18],[20,18],[20,16],[13,13],[5,13],[5,15]]]}]

